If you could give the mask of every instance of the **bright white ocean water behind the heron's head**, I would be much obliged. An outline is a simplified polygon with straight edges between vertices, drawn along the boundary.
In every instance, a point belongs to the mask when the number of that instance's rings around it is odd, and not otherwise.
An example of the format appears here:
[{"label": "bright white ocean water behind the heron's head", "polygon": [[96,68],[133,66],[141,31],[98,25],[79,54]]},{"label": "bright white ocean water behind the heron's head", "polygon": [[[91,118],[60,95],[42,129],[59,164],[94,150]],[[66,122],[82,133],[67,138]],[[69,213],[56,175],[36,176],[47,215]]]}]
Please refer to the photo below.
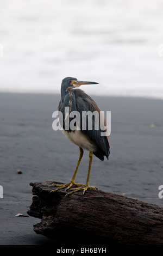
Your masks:
[{"label": "bright white ocean water behind the heron's head", "polygon": [[0,92],[60,93],[66,76],[96,95],[163,99],[161,0],[2,0]]}]

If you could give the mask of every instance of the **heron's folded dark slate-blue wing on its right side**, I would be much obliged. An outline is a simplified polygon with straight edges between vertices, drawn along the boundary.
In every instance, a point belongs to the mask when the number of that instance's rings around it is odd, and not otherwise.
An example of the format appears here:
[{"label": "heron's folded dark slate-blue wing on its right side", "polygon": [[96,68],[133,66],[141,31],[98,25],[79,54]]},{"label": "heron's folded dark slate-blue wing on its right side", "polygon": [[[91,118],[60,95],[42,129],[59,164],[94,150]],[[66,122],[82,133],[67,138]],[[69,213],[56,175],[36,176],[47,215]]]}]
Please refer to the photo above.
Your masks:
[{"label": "heron's folded dark slate-blue wing on its right side", "polygon": [[[75,89],[74,93],[76,94],[76,108],[77,111],[80,113],[80,130],[86,134],[98,147],[97,153],[95,154],[99,159],[104,160],[104,155],[107,157],[110,153],[110,145],[109,145],[109,136],[102,136],[102,132],[104,132],[103,126],[106,127],[106,121],[104,116],[101,115],[101,109],[98,107],[95,101],[91,99],[89,95],[84,93],[82,90],[78,92],[79,89]],[[95,115],[90,115],[92,117],[92,125],[90,123],[89,116],[85,118],[86,112],[94,112]],[[101,120],[99,119],[101,115]],[[86,121],[85,126],[83,126],[83,119]],[[89,127],[89,124],[91,125]],[[86,128],[86,129],[85,129]],[[91,129],[90,129],[91,128]]]}]

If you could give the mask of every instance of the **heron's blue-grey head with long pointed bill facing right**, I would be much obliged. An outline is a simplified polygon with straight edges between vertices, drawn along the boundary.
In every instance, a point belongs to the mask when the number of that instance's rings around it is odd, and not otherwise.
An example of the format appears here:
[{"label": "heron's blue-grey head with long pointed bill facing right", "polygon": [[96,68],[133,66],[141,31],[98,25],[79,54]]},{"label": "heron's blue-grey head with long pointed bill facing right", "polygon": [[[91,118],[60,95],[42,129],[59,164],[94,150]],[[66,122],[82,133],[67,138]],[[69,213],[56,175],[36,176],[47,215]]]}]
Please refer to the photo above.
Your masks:
[{"label": "heron's blue-grey head with long pointed bill facing right", "polygon": [[87,82],[87,81],[78,81],[77,78],[74,77],[65,77],[62,80],[61,87],[67,90],[71,90],[76,87],[82,86],[82,84],[97,84],[96,82]]}]

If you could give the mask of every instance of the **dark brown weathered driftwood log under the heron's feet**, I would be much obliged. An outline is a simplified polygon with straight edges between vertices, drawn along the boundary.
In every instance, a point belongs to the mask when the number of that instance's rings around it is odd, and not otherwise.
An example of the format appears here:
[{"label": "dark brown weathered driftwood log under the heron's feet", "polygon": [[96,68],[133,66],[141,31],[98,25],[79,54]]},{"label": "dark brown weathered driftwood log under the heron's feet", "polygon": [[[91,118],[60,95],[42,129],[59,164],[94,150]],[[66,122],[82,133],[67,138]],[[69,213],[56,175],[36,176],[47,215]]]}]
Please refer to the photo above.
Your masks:
[{"label": "dark brown weathered driftwood log under the heron's feet", "polygon": [[89,189],[67,197],[50,193],[53,183],[30,183],[33,203],[29,216],[40,218],[34,231],[76,245],[163,245],[163,208],[139,200]]}]

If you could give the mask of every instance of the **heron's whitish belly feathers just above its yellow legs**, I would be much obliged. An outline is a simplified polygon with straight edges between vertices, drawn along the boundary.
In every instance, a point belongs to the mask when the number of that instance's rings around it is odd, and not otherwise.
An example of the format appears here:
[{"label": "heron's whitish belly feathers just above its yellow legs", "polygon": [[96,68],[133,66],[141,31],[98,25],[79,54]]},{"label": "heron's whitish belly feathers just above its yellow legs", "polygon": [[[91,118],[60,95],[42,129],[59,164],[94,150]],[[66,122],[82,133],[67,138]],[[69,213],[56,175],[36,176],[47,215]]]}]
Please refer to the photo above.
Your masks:
[{"label": "heron's whitish belly feathers just above its yellow legs", "polygon": [[70,139],[70,141],[76,145],[78,145],[80,148],[90,150],[92,152],[97,151],[97,146],[95,143],[91,141],[91,139],[85,135],[82,131],[80,130],[75,130],[75,131],[65,131],[62,130],[64,133],[65,137]]}]

